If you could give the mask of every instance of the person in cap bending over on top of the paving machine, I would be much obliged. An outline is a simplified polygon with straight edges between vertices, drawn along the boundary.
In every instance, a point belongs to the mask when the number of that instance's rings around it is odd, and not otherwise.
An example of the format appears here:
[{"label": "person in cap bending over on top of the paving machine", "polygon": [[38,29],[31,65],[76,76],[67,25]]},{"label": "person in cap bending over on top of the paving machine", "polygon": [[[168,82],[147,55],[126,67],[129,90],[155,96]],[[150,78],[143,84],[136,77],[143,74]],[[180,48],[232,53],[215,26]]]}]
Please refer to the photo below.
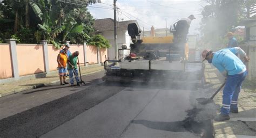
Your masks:
[{"label": "person in cap bending over on top of the paving machine", "polygon": [[191,21],[196,19],[193,14],[188,16],[187,18],[181,18],[177,23],[174,23],[173,32],[174,39],[186,39],[188,34],[188,29],[190,28]]}]

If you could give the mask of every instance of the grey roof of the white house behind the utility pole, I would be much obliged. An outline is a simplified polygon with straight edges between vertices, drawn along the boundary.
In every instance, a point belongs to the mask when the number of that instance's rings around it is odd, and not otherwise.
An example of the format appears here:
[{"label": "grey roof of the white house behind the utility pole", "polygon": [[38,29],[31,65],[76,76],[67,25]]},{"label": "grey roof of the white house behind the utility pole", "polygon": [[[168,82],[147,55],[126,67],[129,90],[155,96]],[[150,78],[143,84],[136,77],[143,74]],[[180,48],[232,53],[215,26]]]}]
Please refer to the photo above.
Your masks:
[{"label": "grey roof of the white house behind the utility pole", "polygon": [[[127,30],[128,24],[137,23],[136,20],[117,21],[117,30]],[[113,31],[114,20],[112,18],[97,19],[93,25],[95,30],[101,31]]]}]

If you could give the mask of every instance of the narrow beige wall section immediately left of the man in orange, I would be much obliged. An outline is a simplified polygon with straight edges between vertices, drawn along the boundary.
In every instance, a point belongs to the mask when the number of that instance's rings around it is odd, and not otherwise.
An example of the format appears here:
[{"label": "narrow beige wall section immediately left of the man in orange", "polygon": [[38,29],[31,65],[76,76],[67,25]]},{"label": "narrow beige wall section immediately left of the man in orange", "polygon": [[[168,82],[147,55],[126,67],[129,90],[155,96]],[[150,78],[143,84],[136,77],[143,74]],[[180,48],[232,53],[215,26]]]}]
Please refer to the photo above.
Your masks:
[{"label": "narrow beige wall section immediately left of the man in orange", "polygon": [[48,44],[48,61],[49,61],[49,70],[57,70],[57,56],[59,54],[59,49],[55,48],[53,45]]}]

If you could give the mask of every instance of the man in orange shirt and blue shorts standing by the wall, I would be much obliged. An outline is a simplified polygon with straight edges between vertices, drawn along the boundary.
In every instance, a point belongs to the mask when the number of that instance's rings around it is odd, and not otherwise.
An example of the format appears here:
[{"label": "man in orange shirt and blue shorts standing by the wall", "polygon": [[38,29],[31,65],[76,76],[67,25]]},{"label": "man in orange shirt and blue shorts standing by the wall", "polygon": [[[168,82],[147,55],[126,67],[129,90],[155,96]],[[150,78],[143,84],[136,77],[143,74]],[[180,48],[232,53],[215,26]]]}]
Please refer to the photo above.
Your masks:
[{"label": "man in orange shirt and blue shorts standing by the wall", "polygon": [[66,79],[66,62],[68,61],[68,57],[66,56],[66,49],[63,49],[62,53],[59,53],[57,56],[58,70],[59,70],[59,81],[60,85],[69,84],[65,81]]}]

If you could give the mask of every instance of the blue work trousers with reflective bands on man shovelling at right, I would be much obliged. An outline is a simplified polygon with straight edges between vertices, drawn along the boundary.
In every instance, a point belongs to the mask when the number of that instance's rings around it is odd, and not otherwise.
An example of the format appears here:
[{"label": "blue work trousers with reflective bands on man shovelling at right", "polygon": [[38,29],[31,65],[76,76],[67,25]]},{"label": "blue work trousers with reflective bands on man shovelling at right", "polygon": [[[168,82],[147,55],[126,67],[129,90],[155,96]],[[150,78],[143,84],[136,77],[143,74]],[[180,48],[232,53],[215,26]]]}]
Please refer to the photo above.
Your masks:
[{"label": "blue work trousers with reflective bands on man shovelling at right", "polygon": [[241,74],[227,76],[226,84],[223,90],[223,106],[220,109],[221,114],[229,114],[230,109],[238,110],[238,96],[241,90],[242,81],[245,80],[246,75],[247,71]]}]

